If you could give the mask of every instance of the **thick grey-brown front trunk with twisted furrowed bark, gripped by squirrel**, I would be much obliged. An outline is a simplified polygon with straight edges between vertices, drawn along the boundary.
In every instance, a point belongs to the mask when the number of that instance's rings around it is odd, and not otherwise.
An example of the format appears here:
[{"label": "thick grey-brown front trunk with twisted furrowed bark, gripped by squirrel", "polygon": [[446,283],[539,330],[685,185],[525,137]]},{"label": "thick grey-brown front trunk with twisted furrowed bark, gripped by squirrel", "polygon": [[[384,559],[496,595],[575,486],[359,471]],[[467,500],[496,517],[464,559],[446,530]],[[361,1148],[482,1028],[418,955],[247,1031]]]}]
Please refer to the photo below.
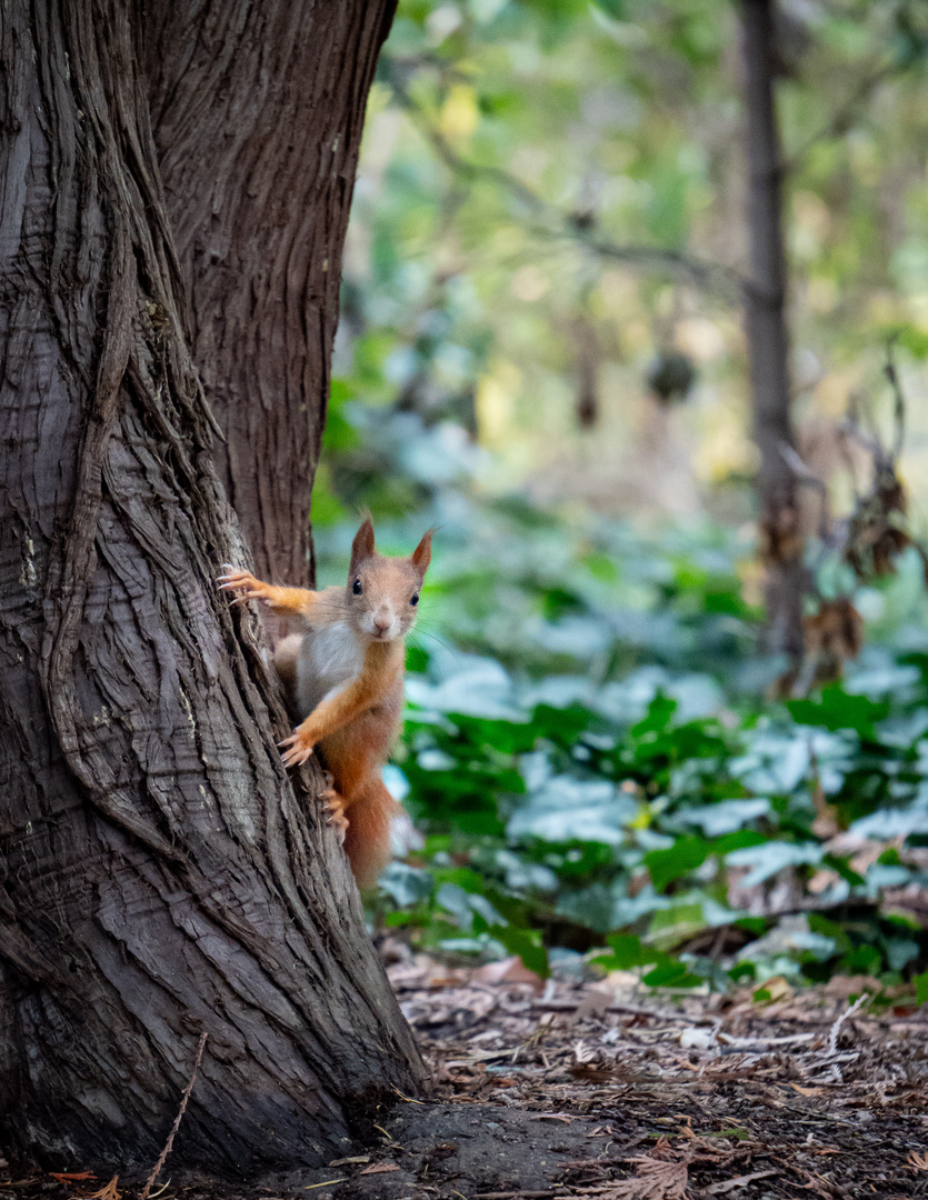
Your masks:
[{"label": "thick grey-brown front trunk with twisted furrowed bark, gripped by squirrel", "polygon": [[[241,18],[222,36],[255,7],[216,5]],[[341,5],[261,5],[268,28],[299,7],[321,56],[348,37]],[[387,0],[345,7],[372,54]],[[423,1067],[281,768],[253,618],[215,590],[245,551],[184,337],[142,11],[0,13],[0,1106],[6,1146],[150,1164],[205,1031],[174,1162],[245,1172],[327,1160],[349,1110]],[[228,55],[199,11],[185,44]]]}]

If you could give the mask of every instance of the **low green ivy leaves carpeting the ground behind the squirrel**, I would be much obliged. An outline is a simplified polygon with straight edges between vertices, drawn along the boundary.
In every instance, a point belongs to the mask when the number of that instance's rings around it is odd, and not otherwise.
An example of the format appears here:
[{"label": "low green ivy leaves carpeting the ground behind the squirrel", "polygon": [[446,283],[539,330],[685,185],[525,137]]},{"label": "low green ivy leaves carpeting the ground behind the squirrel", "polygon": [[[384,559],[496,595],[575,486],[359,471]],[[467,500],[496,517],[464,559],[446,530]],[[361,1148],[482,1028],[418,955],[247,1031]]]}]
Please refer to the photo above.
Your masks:
[{"label": "low green ivy leaves carpeting the ground behind the squirrel", "polygon": [[[843,686],[771,702],[770,665],[716,653],[707,553],[714,594],[738,594],[717,532],[690,532],[689,554],[675,542],[667,563],[607,523],[457,505],[409,652],[396,763],[424,845],[384,877],[388,928],[424,948],[519,954],[543,976],[547,954],[591,952],[648,986],[834,972],[892,984],[926,962],[921,928],[882,896],[924,882],[928,654],[872,644]],[[789,881],[791,914],[748,916]],[[720,956],[713,930],[726,931]]]}]

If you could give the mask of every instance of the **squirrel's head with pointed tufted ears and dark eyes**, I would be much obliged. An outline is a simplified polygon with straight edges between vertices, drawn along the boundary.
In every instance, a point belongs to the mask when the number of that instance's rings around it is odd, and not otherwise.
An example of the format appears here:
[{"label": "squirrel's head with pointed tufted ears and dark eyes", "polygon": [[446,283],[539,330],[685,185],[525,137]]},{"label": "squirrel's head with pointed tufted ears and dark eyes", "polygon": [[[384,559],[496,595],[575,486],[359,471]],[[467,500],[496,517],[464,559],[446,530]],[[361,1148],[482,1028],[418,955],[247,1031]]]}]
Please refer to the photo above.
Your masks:
[{"label": "squirrel's head with pointed tufted ears and dark eyes", "polygon": [[348,612],[359,632],[375,642],[391,642],[411,628],[432,558],[432,533],[408,558],[387,558],[373,545],[370,517],[364,521],[352,542],[347,588]]}]

